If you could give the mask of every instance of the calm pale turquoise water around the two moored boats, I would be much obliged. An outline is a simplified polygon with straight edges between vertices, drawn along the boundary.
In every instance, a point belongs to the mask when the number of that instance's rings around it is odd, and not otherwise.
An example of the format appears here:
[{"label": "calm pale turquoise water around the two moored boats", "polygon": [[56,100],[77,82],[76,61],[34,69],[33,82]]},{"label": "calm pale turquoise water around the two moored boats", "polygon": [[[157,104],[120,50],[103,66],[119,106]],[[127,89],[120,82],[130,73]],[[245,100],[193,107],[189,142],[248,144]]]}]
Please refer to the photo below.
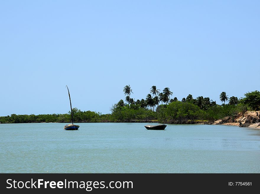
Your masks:
[{"label": "calm pale turquoise water around the two moored boats", "polygon": [[[0,124],[1,173],[259,173],[259,130],[149,123]],[[154,123],[153,123],[154,124]]]}]

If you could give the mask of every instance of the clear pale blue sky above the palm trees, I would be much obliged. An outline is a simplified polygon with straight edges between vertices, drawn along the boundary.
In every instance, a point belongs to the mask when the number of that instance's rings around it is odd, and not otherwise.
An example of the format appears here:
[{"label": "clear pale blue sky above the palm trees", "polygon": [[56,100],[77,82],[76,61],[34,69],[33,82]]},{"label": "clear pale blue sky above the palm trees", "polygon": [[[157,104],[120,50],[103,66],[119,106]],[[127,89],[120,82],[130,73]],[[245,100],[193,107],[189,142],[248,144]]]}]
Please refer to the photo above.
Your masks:
[{"label": "clear pale blue sky above the palm trees", "polygon": [[130,84],[218,104],[260,90],[260,1],[1,1],[0,116],[110,113]]}]

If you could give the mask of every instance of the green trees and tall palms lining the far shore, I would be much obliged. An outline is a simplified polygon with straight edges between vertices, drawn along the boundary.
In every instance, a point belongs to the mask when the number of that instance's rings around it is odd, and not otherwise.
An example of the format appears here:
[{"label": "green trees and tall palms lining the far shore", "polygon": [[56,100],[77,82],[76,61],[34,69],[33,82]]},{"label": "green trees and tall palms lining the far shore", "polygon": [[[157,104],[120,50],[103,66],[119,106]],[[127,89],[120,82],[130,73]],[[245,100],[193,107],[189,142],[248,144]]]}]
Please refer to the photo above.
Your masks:
[{"label": "green trees and tall palms lining the far shore", "polygon": [[[102,114],[93,111],[72,109],[74,123],[98,123],[98,122],[158,122],[168,124],[213,124],[216,120],[228,120],[235,122],[236,118],[247,111],[256,111],[257,117],[252,122],[260,122],[260,92],[247,92],[242,98],[228,97],[226,92],[219,96],[218,105],[209,97],[193,98],[189,94],[186,98],[178,100],[172,98],[173,92],[168,87],[161,92],[156,86],[152,86],[145,99],[135,100],[131,98],[133,91],[130,85],[123,89],[125,101],[119,100],[110,108],[111,114]],[[259,116],[259,117],[258,117]],[[71,123],[71,112],[66,114],[41,114],[41,115],[7,115],[0,117],[0,123]]]}]

